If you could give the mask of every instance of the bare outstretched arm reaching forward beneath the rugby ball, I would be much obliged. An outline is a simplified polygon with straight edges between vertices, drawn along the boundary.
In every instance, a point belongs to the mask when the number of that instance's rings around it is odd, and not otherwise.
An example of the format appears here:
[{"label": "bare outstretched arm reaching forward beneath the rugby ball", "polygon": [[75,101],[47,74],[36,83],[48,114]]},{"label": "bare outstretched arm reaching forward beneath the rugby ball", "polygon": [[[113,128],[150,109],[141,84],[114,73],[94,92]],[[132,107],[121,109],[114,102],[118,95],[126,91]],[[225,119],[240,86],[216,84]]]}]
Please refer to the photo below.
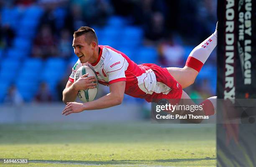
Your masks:
[{"label": "bare outstretched arm reaching forward beneath the rugby ball", "polygon": [[110,84],[110,93],[92,102],[78,103],[68,102],[62,114],[69,115],[71,113],[82,112],[84,110],[98,110],[115,105],[120,105],[123,102],[125,91],[125,81],[115,82]]}]

